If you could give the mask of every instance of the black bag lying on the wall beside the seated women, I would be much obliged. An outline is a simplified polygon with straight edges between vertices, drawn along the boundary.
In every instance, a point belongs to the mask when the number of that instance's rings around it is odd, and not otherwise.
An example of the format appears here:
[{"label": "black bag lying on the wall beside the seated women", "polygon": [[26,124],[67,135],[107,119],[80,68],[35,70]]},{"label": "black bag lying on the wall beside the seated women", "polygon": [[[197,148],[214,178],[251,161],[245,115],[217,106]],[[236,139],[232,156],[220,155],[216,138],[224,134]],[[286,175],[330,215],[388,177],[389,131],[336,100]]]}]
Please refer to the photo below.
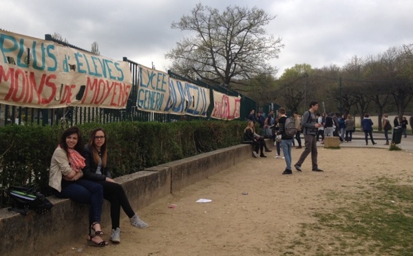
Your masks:
[{"label": "black bag lying on the wall beside the seated women", "polygon": [[53,206],[43,194],[36,192],[34,186],[10,186],[7,193],[13,203],[8,210],[22,215],[28,215],[30,209],[36,213],[45,214]]}]

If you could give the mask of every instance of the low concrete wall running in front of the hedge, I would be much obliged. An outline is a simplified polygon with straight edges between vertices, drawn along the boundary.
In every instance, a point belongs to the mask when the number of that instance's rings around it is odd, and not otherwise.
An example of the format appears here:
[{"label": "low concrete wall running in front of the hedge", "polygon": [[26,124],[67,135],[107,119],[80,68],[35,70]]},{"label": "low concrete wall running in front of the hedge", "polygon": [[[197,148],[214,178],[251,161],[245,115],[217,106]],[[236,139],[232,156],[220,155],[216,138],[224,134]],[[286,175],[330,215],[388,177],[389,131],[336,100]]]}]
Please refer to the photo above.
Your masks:
[{"label": "low concrete wall running in front of the hedge", "polygon": [[[267,140],[267,144],[272,142]],[[116,182],[122,184],[132,208],[138,210],[252,156],[251,145],[237,145],[151,167],[116,178]],[[30,211],[23,216],[0,210],[0,255],[47,255],[78,237],[86,237],[89,206],[54,196],[48,199],[54,206],[45,215]],[[108,202],[103,204],[101,223],[103,231],[109,233]]]}]

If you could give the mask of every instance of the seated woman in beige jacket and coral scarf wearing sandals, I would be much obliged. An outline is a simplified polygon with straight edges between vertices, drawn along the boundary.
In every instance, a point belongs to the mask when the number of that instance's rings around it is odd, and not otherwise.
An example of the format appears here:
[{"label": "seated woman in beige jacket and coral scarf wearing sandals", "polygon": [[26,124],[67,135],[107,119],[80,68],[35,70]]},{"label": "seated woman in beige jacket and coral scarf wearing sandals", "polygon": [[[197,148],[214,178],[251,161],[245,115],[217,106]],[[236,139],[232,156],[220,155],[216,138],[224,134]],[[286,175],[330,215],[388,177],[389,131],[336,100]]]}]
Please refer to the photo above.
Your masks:
[{"label": "seated woman in beige jacket and coral scarf wearing sandals", "polygon": [[100,228],[103,187],[96,182],[82,179],[81,169],[85,167],[85,158],[80,153],[82,149],[82,136],[77,127],[63,131],[50,163],[49,186],[54,189],[58,198],[70,198],[81,204],[90,204],[87,242],[92,246],[103,247],[108,244],[100,237],[103,235]]}]

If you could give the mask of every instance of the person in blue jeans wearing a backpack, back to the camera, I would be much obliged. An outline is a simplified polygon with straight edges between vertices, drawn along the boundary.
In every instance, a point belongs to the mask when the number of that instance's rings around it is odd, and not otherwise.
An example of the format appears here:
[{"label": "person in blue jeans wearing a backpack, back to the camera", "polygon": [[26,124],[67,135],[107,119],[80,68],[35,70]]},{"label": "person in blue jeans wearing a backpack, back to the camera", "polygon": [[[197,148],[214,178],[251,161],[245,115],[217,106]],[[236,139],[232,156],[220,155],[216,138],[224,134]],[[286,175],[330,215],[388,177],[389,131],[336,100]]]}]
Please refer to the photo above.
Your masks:
[{"label": "person in blue jeans wearing a backpack, back to the camera", "polygon": [[281,148],[287,165],[282,174],[293,174],[291,169],[291,148],[293,147],[293,140],[297,133],[297,128],[295,127],[294,118],[287,118],[286,109],[284,109],[284,107],[280,107],[278,113],[280,114],[278,120],[278,134],[281,134]]}]

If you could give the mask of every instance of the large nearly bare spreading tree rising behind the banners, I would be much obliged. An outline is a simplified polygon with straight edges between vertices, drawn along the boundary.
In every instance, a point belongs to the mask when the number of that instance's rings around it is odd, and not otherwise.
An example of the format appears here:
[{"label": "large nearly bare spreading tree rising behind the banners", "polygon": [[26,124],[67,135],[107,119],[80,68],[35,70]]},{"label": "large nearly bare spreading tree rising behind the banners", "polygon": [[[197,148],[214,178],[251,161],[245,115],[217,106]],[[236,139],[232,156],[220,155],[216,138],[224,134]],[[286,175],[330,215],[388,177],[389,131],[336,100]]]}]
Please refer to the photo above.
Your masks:
[{"label": "large nearly bare spreading tree rising behind the banners", "polygon": [[222,13],[198,3],[190,15],[173,22],[171,28],[191,32],[165,54],[172,69],[191,79],[227,85],[235,79],[276,73],[268,61],[278,58],[281,39],[267,35],[264,25],[275,17],[264,10],[228,6]]}]

